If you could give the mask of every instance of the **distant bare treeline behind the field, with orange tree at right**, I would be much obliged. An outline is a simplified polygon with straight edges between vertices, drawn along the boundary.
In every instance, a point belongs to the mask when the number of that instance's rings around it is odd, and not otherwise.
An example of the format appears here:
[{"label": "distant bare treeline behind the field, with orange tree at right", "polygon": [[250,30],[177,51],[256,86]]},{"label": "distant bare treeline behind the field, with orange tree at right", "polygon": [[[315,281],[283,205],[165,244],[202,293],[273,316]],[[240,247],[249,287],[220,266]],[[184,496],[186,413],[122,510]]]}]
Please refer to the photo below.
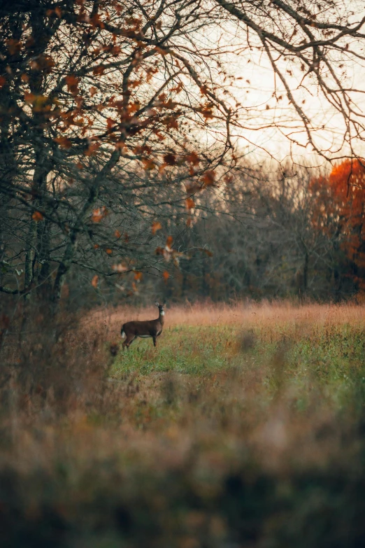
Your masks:
[{"label": "distant bare treeline behind the field, with orange tree at right", "polygon": [[[192,220],[171,209],[159,223],[162,234],[171,234],[175,258],[165,253],[159,270],[121,273],[98,288],[88,274],[82,298],[86,293],[90,304],[125,298],[147,304],[153,295],[169,302],[362,300],[364,173],[361,162],[350,160],[327,176],[304,167],[270,173],[241,166],[195,204]],[[83,276],[73,274],[74,295]]]}]

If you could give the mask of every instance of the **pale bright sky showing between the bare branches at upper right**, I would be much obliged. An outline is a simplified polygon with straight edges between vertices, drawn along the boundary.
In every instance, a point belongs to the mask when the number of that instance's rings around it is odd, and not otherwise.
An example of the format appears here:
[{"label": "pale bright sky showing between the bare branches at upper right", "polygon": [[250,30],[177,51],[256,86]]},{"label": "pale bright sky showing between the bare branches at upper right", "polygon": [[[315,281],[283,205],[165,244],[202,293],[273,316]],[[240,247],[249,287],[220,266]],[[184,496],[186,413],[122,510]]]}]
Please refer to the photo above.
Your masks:
[{"label": "pale bright sky showing between the bare branches at upper right", "polygon": [[[348,3],[348,6],[354,6],[354,2],[349,3],[345,1],[343,6]],[[362,8],[365,15],[365,2],[357,2],[357,8]],[[362,11],[360,10],[360,15]],[[357,15],[357,19],[359,15]],[[365,29],[364,29],[365,30]],[[229,48],[231,50],[236,49],[238,51],[240,43],[243,44],[243,34],[240,36],[237,34],[236,25],[232,25],[231,28],[224,29],[224,38],[220,38],[222,48]],[[241,31],[242,33],[243,31]],[[211,36],[205,36],[205,39],[210,43],[213,43],[217,38],[215,32]],[[354,43],[347,38],[350,43],[350,49],[357,52],[362,52],[362,44]],[[337,55],[334,53],[334,56]],[[231,53],[226,56],[227,66],[229,72],[234,74],[236,78],[242,78],[229,85],[229,91],[234,94],[238,101],[242,104],[241,123],[244,127],[237,129],[236,139],[238,145],[244,152],[250,153],[250,156],[266,157],[264,150],[269,152],[275,157],[275,160],[284,160],[287,155],[292,154],[296,160],[301,163],[304,161],[323,163],[323,159],[319,159],[316,153],[313,153],[312,147],[308,146],[303,148],[301,146],[290,145],[289,141],[285,137],[286,134],[292,134],[299,143],[306,144],[308,142],[306,132],[303,127],[300,127],[298,120],[299,115],[294,111],[294,107],[289,104],[285,89],[280,82],[278,76],[274,80],[273,69],[271,68],[269,59],[267,59],[265,53],[260,53],[257,50],[248,50],[244,48],[238,55]],[[303,74],[300,70],[299,59],[295,59],[294,63],[283,60],[281,63],[282,72],[285,73],[287,82],[291,91],[296,90]],[[337,66],[336,66],[337,65]],[[336,68],[336,76],[341,76],[341,70],[346,71],[346,79],[343,80],[346,83],[347,88],[357,88],[361,90],[363,94],[351,92],[353,104],[359,108],[360,111],[365,111],[365,62],[360,64],[357,61],[349,61],[345,59],[344,69],[338,68],[338,63],[334,64]],[[287,70],[292,71],[292,76],[287,73]],[[280,101],[276,101],[272,97],[273,90],[276,87],[279,90],[278,96],[282,95]],[[321,148],[329,148],[331,150],[331,157],[335,157],[342,154],[348,154],[350,152],[348,146],[345,146],[342,150],[341,141],[344,133],[344,123],[341,114],[339,114],[334,107],[332,107],[322,94],[318,91],[315,83],[314,76],[306,76],[303,80],[303,86],[300,90],[296,90],[294,97],[303,108],[307,117],[313,121],[315,127],[322,127],[320,131],[313,133],[313,140]],[[302,101],[305,101],[302,103]],[[269,110],[266,110],[266,104],[269,104]],[[247,111],[245,111],[247,109]],[[265,127],[269,123],[275,120],[278,125],[282,127],[282,132],[274,127]],[[256,129],[257,128],[257,129]],[[252,144],[246,140],[251,141]],[[365,143],[361,141],[353,141],[355,145],[355,152],[358,155],[365,154]],[[262,152],[260,148],[263,148]]]}]

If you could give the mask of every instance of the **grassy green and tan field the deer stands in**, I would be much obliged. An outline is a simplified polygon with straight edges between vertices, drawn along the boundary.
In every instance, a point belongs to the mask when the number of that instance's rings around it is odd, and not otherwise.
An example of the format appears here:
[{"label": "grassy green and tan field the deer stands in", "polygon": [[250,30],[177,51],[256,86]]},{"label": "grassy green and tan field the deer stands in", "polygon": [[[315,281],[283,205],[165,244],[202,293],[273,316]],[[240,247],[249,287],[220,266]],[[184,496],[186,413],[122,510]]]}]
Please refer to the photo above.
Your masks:
[{"label": "grassy green and tan field the deer stands in", "polygon": [[1,546],[364,545],[364,312],[176,307],[122,352],[155,311],[99,310],[14,346]]}]

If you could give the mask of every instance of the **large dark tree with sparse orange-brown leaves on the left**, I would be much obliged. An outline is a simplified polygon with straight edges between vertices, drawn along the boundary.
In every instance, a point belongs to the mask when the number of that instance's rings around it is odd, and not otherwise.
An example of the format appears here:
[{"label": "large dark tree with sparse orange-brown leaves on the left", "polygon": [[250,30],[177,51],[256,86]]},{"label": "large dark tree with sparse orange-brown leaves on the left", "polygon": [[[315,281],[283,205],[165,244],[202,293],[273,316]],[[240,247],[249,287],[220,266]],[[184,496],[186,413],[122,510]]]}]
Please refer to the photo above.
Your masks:
[{"label": "large dark tree with sparse orange-brown leaves on the left", "polygon": [[194,45],[190,4],[17,7],[0,20],[2,253],[5,281],[15,265],[22,276],[2,290],[43,286],[57,302],[72,265],[120,277],[161,262],[166,232],[152,237],[172,206],[185,216],[185,199],[213,185],[231,111],[211,85],[218,59],[208,73]]}]

